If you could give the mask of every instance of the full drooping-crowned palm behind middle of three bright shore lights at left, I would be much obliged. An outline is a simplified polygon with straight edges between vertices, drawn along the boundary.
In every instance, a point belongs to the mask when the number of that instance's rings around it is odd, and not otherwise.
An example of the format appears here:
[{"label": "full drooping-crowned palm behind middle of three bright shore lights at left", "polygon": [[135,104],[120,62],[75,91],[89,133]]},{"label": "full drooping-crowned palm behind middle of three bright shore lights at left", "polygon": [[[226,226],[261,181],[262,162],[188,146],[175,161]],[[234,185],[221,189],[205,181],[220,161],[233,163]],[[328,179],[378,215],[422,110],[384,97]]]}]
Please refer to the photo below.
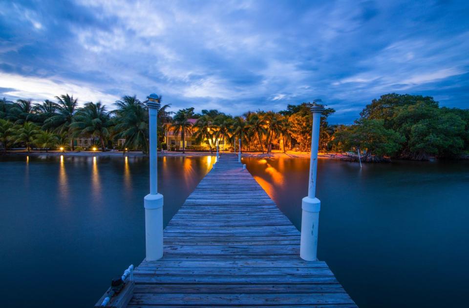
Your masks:
[{"label": "full drooping-crowned palm behind middle of three bright shore lights at left", "polygon": [[101,149],[106,151],[104,138],[109,136],[107,126],[109,125],[109,114],[101,102],[96,104],[89,102],[75,115],[75,121],[70,124],[70,129],[79,132],[80,135],[98,137]]}]

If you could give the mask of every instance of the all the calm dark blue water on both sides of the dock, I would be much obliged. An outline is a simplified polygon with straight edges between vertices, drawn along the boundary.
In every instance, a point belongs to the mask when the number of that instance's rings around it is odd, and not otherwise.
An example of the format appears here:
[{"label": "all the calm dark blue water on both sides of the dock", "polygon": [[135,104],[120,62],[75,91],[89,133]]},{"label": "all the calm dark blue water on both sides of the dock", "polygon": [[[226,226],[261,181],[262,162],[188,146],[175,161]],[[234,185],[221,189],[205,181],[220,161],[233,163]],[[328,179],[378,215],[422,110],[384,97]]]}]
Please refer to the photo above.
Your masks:
[{"label": "all the calm dark blue water on both sides of the dock", "polygon": [[[213,157],[163,157],[169,222]],[[300,228],[308,159],[245,158]],[[319,257],[360,307],[461,307],[469,284],[469,164],[320,160]],[[145,256],[148,160],[0,158],[2,307],[90,307]],[[464,300],[464,301],[463,301]]]}]

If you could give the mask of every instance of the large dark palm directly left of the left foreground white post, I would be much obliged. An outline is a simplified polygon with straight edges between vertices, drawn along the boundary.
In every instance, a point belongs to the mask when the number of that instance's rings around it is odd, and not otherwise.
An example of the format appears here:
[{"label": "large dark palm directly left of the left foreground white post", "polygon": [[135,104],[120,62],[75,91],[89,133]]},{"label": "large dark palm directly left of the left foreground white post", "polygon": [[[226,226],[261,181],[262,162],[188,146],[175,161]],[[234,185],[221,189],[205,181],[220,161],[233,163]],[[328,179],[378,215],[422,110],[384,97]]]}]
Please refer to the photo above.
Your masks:
[{"label": "large dark palm directly left of the left foreground white post", "polygon": [[120,138],[125,138],[125,147],[142,149],[148,153],[148,109],[136,96],[124,96],[122,100],[116,101],[118,109],[111,111],[115,114],[113,119],[117,124],[114,129],[119,132]]}]

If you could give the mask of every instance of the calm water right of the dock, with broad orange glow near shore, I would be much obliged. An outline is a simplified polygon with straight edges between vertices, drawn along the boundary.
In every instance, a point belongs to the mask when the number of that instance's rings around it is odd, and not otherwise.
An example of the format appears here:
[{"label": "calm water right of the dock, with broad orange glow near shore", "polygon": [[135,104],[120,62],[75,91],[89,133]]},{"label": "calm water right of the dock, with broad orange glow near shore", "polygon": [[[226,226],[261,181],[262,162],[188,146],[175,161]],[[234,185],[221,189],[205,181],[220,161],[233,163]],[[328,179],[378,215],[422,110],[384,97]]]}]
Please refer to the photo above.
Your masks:
[{"label": "calm water right of the dock, with broad orange glow near shore", "polygon": [[[295,226],[309,159],[245,158]],[[469,163],[319,160],[318,257],[359,307],[467,307]]]}]

